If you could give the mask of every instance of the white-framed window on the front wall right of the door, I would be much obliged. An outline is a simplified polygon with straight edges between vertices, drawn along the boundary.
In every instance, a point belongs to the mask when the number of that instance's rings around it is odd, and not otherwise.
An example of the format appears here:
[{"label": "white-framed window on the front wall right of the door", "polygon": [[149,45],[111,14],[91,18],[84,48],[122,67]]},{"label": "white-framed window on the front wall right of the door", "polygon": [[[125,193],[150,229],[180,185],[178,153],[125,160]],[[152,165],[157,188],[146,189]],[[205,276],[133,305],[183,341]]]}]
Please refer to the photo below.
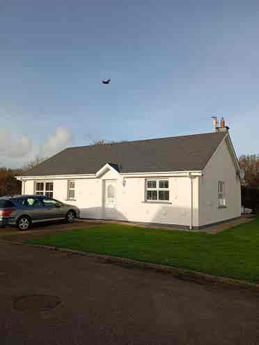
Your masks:
[{"label": "white-framed window on the front wall right of the door", "polygon": [[147,179],[146,180],[146,200],[168,201],[169,200],[168,179]]}]

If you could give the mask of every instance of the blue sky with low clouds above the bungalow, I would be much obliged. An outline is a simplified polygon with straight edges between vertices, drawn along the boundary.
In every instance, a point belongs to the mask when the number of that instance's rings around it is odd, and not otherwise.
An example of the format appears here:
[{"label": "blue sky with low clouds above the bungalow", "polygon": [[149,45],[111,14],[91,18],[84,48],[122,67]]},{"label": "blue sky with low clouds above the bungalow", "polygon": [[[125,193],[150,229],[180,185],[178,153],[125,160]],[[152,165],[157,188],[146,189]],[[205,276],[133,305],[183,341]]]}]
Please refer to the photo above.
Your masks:
[{"label": "blue sky with low clouds above the bungalow", "polygon": [[[1,0],[0,166],[213,131],[258,153],[258,1]],[[102,85],[111,78],[111,85]]]}]

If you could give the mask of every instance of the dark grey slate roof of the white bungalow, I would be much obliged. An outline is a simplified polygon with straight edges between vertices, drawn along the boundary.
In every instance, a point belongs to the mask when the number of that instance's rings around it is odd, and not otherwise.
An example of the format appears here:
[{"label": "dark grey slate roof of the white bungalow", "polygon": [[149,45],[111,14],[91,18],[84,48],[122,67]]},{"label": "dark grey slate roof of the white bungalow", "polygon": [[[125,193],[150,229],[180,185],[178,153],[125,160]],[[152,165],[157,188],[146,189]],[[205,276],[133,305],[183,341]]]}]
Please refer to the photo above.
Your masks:
[{"label": "dark grey slate roof of the white bungalow", "polygon": [[110,163],[120,172],[202,170],[226,133],[69,147],[24,176],[95,174]]}]

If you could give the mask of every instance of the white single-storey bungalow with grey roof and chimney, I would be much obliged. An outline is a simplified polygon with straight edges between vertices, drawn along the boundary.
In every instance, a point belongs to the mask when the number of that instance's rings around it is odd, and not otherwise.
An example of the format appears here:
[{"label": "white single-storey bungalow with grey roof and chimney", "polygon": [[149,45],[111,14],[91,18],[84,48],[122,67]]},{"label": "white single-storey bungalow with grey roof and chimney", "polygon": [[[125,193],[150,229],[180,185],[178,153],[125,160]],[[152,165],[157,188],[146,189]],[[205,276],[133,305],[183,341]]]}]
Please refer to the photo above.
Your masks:
[{"label": "white single-storey bungalow with grey roof and chimney", "polygon": [[241,212],[228,127],[215,133],[70,147],[23,176],[22,194],[77,205],[86,219],[202,228]]}]

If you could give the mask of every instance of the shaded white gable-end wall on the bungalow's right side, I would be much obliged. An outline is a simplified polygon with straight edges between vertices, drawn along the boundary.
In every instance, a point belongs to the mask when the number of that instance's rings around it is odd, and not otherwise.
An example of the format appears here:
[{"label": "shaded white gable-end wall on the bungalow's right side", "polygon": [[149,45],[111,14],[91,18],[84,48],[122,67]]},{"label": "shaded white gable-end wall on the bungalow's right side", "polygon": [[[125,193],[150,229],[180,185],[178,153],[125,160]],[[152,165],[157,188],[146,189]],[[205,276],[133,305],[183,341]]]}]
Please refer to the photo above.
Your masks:
[{"label": "shaded white gable-end wall on the bungalow's right side", "polygon": [[[218,206],[218,181],[226,184],[226,208]],[[240,179],[226,140],[219,145],[200,179],[199,222],[201,225],[232,219],[241,214]]]}]

